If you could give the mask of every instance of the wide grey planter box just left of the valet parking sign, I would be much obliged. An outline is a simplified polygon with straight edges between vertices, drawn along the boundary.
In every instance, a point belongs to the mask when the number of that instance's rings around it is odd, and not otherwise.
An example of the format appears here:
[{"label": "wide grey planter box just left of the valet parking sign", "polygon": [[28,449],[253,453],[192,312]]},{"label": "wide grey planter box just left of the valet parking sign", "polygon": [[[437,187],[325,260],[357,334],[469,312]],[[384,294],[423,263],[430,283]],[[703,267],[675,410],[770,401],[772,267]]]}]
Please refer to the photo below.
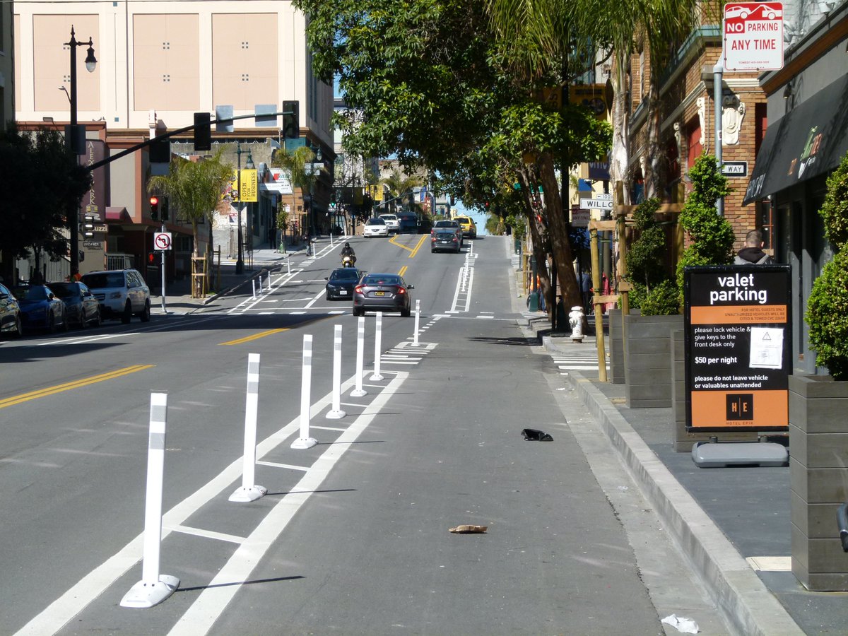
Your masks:
[{"label": "wide grey planter box just left of the valet parking sign", "polygon": [[625,397],[631,409],[672,406],[671,332],[683,315],[624,316]]}]

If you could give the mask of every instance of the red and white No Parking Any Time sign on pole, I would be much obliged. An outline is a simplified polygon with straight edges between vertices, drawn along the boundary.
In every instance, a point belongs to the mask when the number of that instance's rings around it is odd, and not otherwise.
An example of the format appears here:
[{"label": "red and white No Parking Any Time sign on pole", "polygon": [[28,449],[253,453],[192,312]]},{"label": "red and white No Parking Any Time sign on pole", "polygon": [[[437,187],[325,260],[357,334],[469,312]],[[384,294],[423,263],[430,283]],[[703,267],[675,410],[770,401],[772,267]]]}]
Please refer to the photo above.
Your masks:
[{"label": "red and white No Parking Any Time sign on pole", "polygon": [[783,3],[724,5],[724,70],[784,67]]}]

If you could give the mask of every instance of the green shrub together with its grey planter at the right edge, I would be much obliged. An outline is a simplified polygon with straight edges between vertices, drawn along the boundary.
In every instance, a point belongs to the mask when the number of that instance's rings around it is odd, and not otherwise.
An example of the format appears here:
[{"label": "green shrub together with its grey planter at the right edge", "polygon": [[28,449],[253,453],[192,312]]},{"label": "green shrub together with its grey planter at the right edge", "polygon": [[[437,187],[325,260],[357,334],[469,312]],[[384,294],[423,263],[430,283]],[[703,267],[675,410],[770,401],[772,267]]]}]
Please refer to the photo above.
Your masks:
[{"label": "green shrub together with its grey planter at the right edge", "polygon": [[812,284],[805,320],[816,364],[829,375],[789,376],[792,572],[807,589],[848,590],[836,510],[848,500],[848,155],[828,177],[819,210],[834,257]]}]

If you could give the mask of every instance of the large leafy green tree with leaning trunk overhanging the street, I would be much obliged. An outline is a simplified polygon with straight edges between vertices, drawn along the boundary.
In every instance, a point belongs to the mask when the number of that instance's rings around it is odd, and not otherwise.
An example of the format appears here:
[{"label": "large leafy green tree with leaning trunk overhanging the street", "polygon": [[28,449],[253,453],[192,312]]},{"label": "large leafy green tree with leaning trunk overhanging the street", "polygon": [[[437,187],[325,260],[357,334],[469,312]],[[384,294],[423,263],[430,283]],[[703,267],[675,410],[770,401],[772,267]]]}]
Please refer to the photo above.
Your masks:
[{"label": "large leafy green tree with leaning trunk overhanging the street", "polygon": [[[599,159],[610,131],[586,109],[550,111],[537,101],[538,88],[558,83],[558,75],[545,71],[527,81],[517,74],[499,49],[483,0],[295,4],[310,15],[315,73],[324,81],[338,75],[349,104],[335,117],[347,152],[395,155],[407,172],[425,167],[463,200],[493,202],[520,181],[522,157],[533,157],[526,177],[544,186],[544,196],[522,199],[523,213],[531,220],[543,215],[549,224],[566,302],[579,303],[555,165]],[[544,263],[544,251],[537,260]],[[550,285],[548,298],[553,308]]]}]

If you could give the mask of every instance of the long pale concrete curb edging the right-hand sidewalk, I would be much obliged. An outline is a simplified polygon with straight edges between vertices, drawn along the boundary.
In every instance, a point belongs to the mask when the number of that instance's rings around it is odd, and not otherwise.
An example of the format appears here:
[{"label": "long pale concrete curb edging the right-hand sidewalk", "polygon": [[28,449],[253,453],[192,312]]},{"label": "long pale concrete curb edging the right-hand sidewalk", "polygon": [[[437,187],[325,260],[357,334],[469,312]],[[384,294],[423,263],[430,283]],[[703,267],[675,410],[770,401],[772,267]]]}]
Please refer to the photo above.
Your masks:
[{"label": "long pale concrete curb edging the right-hand sidewalk", "polygon": [[579,371],[570,371],[568,382],[600,423],[725,622],[742,634],[803,634],[734,545],[604,393]]}]

